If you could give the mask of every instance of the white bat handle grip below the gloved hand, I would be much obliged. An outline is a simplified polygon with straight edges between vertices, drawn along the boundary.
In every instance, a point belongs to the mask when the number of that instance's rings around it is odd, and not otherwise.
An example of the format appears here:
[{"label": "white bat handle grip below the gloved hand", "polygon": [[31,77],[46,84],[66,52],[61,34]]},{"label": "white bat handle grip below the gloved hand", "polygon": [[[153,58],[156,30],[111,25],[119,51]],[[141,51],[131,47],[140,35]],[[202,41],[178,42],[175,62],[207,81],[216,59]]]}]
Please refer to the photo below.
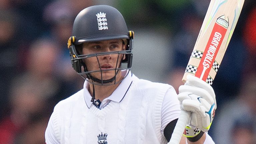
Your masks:
[{"label": "white bat handle grip below the gloved hand", "polygon": [[173,130],[170,142],[167,144],[179,144],[186,125],[188,124],[191,112],[181,110],[180,117]]}]

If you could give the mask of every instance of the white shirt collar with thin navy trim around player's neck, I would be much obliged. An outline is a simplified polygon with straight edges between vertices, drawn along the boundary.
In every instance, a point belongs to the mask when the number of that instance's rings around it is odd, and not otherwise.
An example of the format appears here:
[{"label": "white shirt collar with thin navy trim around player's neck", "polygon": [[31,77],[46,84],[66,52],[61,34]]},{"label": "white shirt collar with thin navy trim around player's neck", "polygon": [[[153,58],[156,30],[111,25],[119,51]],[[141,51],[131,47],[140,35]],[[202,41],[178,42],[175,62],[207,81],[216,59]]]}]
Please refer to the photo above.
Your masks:
[{"label": "white shirt collar with thin navy trim around player's neck", "polygon": [[[121,71],[122,75],[125,76],[127,73],[127,76],[124,78],[124,80],[122,80],[122,82],[119,84],[119,86],[115,89],[115,91],[107,98],[110,101],[115,101],[115,102],[121,102],[122,99],[124,98],[126,92],[128,91],[131,83],[132,83],[132,74],[131,71],[128,70],[123,70]],[[88,91],[89,89],[89,82],[87,80],[85,80],[84,82],[84,99],[85,99],[85,103],[87,105],[88,108],[90,108],[93,104],[91,102],[91,94]],[[104,100],[105,100],[104,99]]]}]

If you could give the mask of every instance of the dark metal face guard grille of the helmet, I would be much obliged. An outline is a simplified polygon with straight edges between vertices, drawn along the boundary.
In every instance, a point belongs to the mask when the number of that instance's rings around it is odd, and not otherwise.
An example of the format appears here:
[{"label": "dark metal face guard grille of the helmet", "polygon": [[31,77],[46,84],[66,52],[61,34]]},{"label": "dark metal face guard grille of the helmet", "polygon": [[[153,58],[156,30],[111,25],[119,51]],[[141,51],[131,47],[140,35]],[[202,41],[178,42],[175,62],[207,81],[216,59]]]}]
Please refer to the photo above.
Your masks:
[{"label": "dark metal face guard grille of the helmet", "polygon": [[[132,32],[133,33],[133,32]],[[123,51],[113,51],[113,52],[101,52],[101,53],[94,53],[94,54],[79,54],[78,50],[76,49],[76,45],[71,43],[72,37],[69,39],[69,52],[70,52],[70,59],[72,63],[72,67],[74,70],[81,75],[85,80],[87,80],[90,83],[96,84],[96,85],[112,85],[121,82],[121,80],[116,80],[116,75],[121,70],[130,70],[132,67],[132,45],[133,45],[133,37],[129,40],[129,44],[126,45],[126,50]],[[115,64],[115,67],[113,69],[107,69],[102,70],[101,64],[99,62],[99,56],[103,55],[118,55],[117,61]],[[125,55],[125,59],[123,59],[123,56]],[[88,71],[86,64],[83,60],[96,57],[99,65],[98,70],[91,70]],[[115,76],[109,80],[103,80],[102,78],[102,72],[104,71],[114,71]],[[101,79],[97,79],[92,77],[92,73],[100,72],[101,73]],[[126,75],[125,75],[126,77]]]}]

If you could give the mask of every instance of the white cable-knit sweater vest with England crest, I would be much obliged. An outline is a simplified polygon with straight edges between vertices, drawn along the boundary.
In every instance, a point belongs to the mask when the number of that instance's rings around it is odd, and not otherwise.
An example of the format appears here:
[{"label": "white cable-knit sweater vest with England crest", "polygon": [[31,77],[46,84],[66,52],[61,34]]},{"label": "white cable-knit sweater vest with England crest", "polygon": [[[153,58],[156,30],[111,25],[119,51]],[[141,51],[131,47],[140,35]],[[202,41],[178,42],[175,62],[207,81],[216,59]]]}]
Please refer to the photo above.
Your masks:
[{"label": "white cable-knit sweater vest with England crest", "polygon": [[162,101],[169,88],[133,77],[123,100],[111,101],[103,109],[88,109],[81,90],[55,106],[51,118],[56,138],[61,144],[167,143],[160,128]]}]

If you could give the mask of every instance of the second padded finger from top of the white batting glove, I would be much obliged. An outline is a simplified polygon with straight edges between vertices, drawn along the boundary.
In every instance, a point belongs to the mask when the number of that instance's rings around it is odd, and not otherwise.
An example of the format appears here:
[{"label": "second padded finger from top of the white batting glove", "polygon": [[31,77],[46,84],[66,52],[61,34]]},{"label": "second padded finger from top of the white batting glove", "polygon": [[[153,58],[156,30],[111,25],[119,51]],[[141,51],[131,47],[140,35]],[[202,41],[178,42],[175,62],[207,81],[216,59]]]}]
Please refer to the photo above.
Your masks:
[{"label": "second padded finger from top of the white batting glove", "polygon": [[[181,85],[179,87],[179,93],[183,92],[189,92],[197,95],[198,97],[204,98],[206,101],[208,101],[210,104],[213,104],[215,102],[215,98],[213,98],[205,89],[188,86],[188,85]],[[215,97],[215,95],[214,95]]]}]

